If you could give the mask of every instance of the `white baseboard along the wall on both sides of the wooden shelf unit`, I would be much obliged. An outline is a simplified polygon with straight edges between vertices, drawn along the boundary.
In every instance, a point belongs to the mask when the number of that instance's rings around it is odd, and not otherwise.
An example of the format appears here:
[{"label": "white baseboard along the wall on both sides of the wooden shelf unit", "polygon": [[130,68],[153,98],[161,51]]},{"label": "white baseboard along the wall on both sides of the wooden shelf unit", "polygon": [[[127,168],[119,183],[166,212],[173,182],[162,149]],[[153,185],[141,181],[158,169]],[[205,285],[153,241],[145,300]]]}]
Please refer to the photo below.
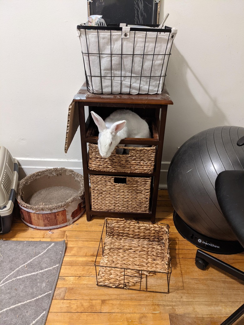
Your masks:
[{"label": "white baseboard along the wall on both sides of the wooden shelf unit", "polygon": [[[83,174],[81,160],[61,160],[61,159],[26,159],[16,158],[19,162],[19,180],[26,175],[44,170],[47,168],[65,167],[73,169],[79,174]],[[170,162],[161,163],[159,188],[167,189],[167,174]]]}]

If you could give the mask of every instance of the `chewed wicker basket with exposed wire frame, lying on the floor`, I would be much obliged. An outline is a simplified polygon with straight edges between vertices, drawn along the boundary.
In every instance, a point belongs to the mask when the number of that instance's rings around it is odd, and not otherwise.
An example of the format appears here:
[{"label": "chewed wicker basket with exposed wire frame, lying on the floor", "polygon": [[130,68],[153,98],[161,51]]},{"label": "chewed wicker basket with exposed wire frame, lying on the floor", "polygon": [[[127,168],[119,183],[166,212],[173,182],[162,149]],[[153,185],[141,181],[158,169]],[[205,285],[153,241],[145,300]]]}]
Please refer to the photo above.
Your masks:
[{"label": "chewed wicker basket with exposed wire frame, lying on the floor", "polygon": [[168,237],[167,224],[106,218],[94,264],[97,285],[169,293]]}]

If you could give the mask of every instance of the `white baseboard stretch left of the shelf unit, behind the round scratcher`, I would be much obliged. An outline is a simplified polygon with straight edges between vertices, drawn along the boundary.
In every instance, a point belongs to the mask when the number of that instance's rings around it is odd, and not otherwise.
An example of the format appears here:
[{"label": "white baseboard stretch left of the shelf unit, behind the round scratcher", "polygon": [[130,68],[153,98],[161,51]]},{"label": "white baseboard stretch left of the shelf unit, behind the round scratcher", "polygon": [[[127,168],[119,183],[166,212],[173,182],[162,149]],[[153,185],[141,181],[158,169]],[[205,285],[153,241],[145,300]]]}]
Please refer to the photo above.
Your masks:
[{"label": "white baseboard stretch left of the shelf unit, behind the round scratcher", "polygon": [[28,158],[16,158],[19,162],[19,180],[26,175],[30,175],[34,172],[44,170],[47,168],[60,168],[65,167],[73,169],[79,174],[83,174],[82,161],[81,160],[65,160],[65,159],[28,159]]}]

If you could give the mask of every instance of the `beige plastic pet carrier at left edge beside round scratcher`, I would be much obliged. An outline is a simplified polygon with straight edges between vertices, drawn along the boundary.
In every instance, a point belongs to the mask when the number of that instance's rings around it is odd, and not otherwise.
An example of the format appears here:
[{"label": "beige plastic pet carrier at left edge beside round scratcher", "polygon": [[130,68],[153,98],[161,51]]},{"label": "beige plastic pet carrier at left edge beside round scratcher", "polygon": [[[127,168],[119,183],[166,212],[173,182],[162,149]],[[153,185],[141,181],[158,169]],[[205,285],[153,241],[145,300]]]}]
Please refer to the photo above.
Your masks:
[{"label": "beige plastic pet carrier at left edge beside round scratcher", "polygon": [[0,234],[10,231],[13,220],[14,201],[18,186],[18,162],[10,152],[0,147]]}]

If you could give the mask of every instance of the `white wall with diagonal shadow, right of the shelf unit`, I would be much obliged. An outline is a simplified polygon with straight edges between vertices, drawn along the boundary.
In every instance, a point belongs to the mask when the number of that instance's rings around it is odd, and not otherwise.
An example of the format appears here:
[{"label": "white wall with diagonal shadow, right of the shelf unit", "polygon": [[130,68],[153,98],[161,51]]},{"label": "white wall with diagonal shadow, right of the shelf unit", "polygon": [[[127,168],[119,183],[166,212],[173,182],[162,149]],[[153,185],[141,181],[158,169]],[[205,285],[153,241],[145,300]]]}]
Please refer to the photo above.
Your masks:
[{"label": "white wall with diagonal shadow, right of the shelf unit", "polygon": [[164,0],[160,21],[178,33],[169,60],[163,160],[196,133],[244,126],[244,1]]}]

